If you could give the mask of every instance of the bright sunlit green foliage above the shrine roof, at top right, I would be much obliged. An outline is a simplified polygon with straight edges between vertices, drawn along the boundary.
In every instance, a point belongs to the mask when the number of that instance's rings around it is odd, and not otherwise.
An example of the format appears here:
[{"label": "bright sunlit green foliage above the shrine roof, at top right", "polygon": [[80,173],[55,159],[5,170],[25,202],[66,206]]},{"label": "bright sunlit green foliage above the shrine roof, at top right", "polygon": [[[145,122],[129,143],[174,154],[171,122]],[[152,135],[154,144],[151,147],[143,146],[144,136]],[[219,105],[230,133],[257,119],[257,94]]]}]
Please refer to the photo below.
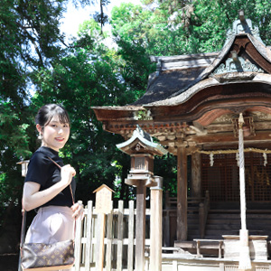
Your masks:
[{"label": "bright sunlit green foliage above the shrine roof, at top right", "polygon": [[[144,2],[147,8],[122,4],[112,10],[113,35],[122,55],[131,55],[129,51],[137,46],[144,48],[147,55],[220,51],[226,31],[238,19],[239,9],[259,27],[263,41],[270,44],[268,1]],[[140,53],[144,56],[143,51]]]}]

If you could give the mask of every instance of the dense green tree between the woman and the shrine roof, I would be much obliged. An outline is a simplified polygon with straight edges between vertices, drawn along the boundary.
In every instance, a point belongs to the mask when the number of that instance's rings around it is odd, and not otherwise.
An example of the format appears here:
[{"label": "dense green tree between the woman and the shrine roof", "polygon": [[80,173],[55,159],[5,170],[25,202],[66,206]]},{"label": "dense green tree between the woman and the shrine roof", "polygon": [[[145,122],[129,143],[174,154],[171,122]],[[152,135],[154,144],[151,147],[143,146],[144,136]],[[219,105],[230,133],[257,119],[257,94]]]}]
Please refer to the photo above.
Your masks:
[{"label": "dense green tree between the woman and the shrine roof", "polygon": [[94,20],[83,23],[79,40],[70,46],[66,57],[52,62],[53,70],[41,69],[33,74],[39,91],[31,107],[56,102],[70,113],[71,135],[62,154],[76,167],[77,198],[85,202],[102,183],[112,187],[116,176],[127,174],[129,166],[125,154],[116,147],[122,137],[104,131],[90,108],[125,105],[136,98],[126,89],[119,69],[122,60],[104,44],[106,37]]}]

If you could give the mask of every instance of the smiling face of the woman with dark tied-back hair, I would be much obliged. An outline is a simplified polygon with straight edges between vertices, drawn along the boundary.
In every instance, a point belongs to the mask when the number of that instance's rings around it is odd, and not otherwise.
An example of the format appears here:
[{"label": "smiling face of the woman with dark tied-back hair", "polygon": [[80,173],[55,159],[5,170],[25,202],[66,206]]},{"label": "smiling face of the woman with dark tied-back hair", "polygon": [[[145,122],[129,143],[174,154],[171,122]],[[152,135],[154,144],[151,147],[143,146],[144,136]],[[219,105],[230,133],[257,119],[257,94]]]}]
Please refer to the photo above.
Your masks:
[{"label": "smiling face of the woman with dark tied-back hair", "polygon": [[[40,131],[39,125],[37,125],[37,129]],[[66,144],[69,136],[69,124],[61,123],[60,118],[55,115],[42,130],[42,146],[50,147],[58,152]]]}]

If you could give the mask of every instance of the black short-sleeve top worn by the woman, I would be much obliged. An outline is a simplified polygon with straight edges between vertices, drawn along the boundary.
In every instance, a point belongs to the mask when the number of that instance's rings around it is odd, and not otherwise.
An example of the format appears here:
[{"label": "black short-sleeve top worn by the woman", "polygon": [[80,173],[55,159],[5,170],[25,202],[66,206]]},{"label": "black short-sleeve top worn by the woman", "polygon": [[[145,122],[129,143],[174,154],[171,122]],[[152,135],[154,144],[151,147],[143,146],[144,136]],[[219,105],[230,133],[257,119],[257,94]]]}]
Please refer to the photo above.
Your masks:
[{"label": "black short-sleeve top worn by the woman", "polygon": [[[49,147],[40,147],[31,157],[28,164],[28,169],[25,177],[25,182],[37,182],[41,184],[40,191],[51,187],[54,183],[61,181],[61,169],[51,162],[50,157],[60,166],[63,166],[63,161],[57,151]],[[71,188],[75,192],[75,180],[71,181]],[[70,193],[70,186],[67,186],[51,201],[48,201],[44,206],[68,206],[72,205],[72,197]]]}]

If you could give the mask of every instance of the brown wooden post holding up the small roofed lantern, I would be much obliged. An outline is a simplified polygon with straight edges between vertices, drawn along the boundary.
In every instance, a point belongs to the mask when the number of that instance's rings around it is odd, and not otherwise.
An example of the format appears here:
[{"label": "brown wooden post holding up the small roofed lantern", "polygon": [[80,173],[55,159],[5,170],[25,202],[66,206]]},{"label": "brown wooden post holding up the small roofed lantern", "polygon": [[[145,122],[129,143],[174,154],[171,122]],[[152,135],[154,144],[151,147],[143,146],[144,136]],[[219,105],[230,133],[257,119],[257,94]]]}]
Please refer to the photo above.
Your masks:
[{"label": "brown wooden post holding up the small roofed lantern", "polygon": [[136,187],[135,270],[145,269],[145,182]]}]

